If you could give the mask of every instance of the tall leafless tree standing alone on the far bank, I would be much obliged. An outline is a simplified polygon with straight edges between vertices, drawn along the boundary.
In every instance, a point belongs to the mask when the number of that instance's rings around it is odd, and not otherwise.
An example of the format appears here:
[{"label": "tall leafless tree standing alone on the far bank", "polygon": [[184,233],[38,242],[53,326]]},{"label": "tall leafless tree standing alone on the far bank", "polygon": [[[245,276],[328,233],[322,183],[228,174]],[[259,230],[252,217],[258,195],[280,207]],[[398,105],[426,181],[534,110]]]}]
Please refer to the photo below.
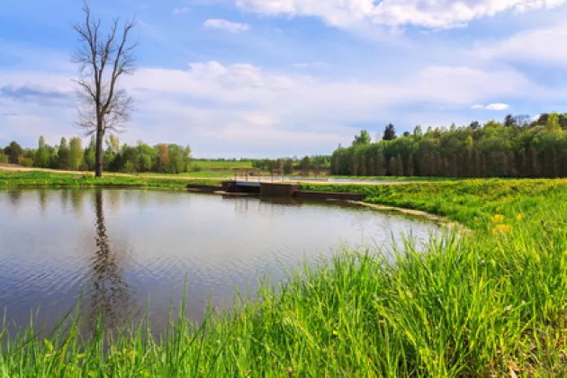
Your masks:
[{"label": "tall leafless tree standing alone on the far bank", "polygon": [[87,135],[96,135],[95,175],[103,175],[103,139],[108,132],[122,132],[130,120],[133,100],[118,86],[122,75],[131,75],[136,68],[133,55],[138,43],[128,44],[130,31],[136,19],[124,23],[119,30],[119,19],[114,18],[110,32],[103,35],[100,19],[95,19],[88,4],[83,4],[84,23],[73,24],[81,43],[73,55],[79,65],[77,91],[81,107],[78,125]]}]

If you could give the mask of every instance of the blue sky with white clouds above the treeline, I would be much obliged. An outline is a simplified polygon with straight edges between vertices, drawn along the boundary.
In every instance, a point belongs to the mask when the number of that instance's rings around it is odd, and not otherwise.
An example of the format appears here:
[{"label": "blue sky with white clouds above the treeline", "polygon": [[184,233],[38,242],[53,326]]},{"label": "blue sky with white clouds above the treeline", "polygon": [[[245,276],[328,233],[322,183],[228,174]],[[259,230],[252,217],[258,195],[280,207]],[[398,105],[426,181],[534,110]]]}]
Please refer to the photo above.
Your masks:
[{"label": "blue sky with white clouds above the treeline", "polygon": [[[567,0],[91,0],[138,24],[121,142],[330,154],[360,130],[567,109]],[[0,146],[76,126],[80,0],[0,0]]]}]

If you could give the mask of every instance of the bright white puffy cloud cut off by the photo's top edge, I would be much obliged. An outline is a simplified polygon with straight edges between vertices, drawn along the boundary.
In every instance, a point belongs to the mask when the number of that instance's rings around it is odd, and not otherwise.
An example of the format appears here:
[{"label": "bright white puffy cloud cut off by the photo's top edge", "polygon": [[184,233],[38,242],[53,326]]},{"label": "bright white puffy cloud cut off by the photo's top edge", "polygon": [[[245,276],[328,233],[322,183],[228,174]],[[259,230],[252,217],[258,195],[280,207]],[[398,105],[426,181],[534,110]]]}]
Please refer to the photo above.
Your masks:
[{"label": "bright white puffy cloud cut off by the photo's top edge", "polygon": [[258,14],[315,16],[333,26],[368,22],[389,26],[451,28],[506,11],[525,13],[554,8],[566,0],[234,0]]}]

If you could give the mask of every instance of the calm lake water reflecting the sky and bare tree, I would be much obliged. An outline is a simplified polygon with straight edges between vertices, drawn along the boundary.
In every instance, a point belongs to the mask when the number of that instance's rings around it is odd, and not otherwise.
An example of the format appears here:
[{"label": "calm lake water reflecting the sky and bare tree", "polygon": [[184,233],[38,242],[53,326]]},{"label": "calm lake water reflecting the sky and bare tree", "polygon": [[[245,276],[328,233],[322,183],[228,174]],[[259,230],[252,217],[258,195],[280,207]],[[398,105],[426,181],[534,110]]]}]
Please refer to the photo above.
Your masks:
[{"label": "calm lake water reflecting the sky and bare tree", "polygon": [[[50,327],[82,295],[109,324],[146,309],[164,329],[186,282],[186,313],[285,279],[304,259],[349,246],[427,240],[436,225],[329,202],[223,198],[144,190],[0,191],[0,310],[19,326]],[[94,320],[93,320],[94,321]]]}]

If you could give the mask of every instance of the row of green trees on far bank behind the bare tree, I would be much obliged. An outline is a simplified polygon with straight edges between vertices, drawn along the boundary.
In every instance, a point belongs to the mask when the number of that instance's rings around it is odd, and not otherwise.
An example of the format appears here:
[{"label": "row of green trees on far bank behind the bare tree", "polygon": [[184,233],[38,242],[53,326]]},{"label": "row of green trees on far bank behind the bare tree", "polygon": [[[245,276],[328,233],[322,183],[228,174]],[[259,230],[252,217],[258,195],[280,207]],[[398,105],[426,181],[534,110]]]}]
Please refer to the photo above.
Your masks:
[{"label": "row of green trees on far bank behind the bare tree", "polygon": [[[183,173],[191,165],[191,148],[176,144],[158,144],[149,146],[139,141],[136,146],[120,144],[120,140],[110,135],[105,140],[103,150],[105,169],[111,172],[124,173]],[[1,150],[0,162],[19,164],[21,166],[37,166],[40,168],[94,170],[96,167],[96,141],[90,139],[83,148],[83,140],[61,138],[56,146],[49,146],[40,137],[38,148],[22,148],[13,141]]]}]

